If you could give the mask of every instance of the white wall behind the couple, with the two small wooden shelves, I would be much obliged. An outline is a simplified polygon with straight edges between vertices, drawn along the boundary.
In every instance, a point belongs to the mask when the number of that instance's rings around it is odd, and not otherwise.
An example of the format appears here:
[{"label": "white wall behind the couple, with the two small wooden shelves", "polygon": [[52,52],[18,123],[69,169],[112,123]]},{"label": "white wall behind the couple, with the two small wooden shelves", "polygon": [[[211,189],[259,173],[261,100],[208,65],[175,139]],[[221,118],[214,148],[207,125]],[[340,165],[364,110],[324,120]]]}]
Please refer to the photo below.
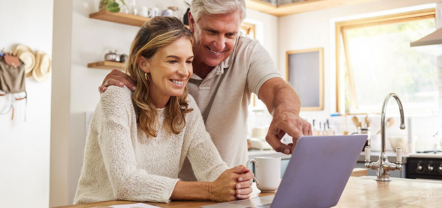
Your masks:
[{"label": "white wall behind the couple, with the two small wooden shelves", "polygon": [[[160,9],[171,5],[184,8],[182,0],[139,2]],[[88,18],[90,13],[98,11],[98,3],[99,0],[63,0],[62,3],[55,1],[54,5],[53,53],[57,61],[54,60],[53,65],[63,70],[54,72],[53,82],[50,206],[73,202],[83,166],[84,115],[94,111],[99,101],[98,87],[110,72],[87,68],[87,63],[103,60],[109,50],[127,54],[139,29]],[[248,10],[248,20],[259,25],[257,29],[263,34],[257,36],[276,59],[277,18]]]}]

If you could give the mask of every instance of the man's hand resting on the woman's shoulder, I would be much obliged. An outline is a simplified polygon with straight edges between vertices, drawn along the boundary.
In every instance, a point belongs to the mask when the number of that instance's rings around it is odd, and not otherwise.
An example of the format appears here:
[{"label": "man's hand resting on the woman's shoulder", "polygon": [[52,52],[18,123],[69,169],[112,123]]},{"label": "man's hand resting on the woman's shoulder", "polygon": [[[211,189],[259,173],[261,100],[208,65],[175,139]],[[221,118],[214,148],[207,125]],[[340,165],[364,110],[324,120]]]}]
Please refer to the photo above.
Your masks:
[{"label": "man's hand resting on the woman's shoulder", "polygon": [[129,75],[117,69],[113,69],[111,73],[106,75],[105,79],[103,80],[103,84],[98,87],[98,91],[103,93],[111,85],[118,87],[123,87],[126,85],[131,90],[137,89],[137,83]]}]

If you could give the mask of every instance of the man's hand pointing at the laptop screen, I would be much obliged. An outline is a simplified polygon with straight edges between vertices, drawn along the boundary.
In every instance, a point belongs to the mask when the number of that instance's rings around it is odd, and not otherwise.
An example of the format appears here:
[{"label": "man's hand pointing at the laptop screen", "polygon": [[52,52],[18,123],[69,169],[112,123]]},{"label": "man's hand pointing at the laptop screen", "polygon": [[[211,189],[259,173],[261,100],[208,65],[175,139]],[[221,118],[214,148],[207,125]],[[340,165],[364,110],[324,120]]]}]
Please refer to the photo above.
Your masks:
[{"label": "man's hand pointing at the laptop screen", "polygon": [[[293,143],[284,145],[281,142],[285,134],[293,137]],[[306,120],[300,118],[296,113],[290,111],[275,111],[266,141],[278,152],[290,154],[295,148],[298,138],[304,135],[311,135],[311,125]]]}]

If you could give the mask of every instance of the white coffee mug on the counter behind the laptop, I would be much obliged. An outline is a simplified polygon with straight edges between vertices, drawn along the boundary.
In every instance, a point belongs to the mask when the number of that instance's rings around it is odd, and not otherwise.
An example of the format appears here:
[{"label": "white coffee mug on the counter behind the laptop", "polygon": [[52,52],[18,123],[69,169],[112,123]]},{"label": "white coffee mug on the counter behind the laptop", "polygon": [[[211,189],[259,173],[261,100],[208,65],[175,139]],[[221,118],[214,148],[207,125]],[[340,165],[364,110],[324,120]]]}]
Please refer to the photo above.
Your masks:
[{"label": "white coffee mug on the counter behind the laptop", "polygon": [[247,161],[247,168],[250,162],[255,164],[256,186],[262,192],[274,192],[279,187],[281,179],[281,158],[280,157],[255,157]]}]

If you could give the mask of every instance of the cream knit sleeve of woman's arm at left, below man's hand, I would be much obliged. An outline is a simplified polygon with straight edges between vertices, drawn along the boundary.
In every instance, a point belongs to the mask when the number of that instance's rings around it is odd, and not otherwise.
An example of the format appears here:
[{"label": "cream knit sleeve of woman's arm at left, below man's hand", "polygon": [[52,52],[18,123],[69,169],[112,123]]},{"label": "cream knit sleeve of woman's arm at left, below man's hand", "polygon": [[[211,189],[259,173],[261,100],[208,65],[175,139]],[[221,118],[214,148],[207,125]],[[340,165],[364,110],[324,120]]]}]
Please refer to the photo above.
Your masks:
[{"label": "cream knit sleeve of woman's arm at left, below man's hand", "polygon": [[[147,173],[137,168],[132,146],[131,99],[121,88],[110,87],[102,94],[102,123],[98,136],[100,149],[115,199],[168,203],[178,179]],[[132,135],[133,136],[133,135]]]}]

